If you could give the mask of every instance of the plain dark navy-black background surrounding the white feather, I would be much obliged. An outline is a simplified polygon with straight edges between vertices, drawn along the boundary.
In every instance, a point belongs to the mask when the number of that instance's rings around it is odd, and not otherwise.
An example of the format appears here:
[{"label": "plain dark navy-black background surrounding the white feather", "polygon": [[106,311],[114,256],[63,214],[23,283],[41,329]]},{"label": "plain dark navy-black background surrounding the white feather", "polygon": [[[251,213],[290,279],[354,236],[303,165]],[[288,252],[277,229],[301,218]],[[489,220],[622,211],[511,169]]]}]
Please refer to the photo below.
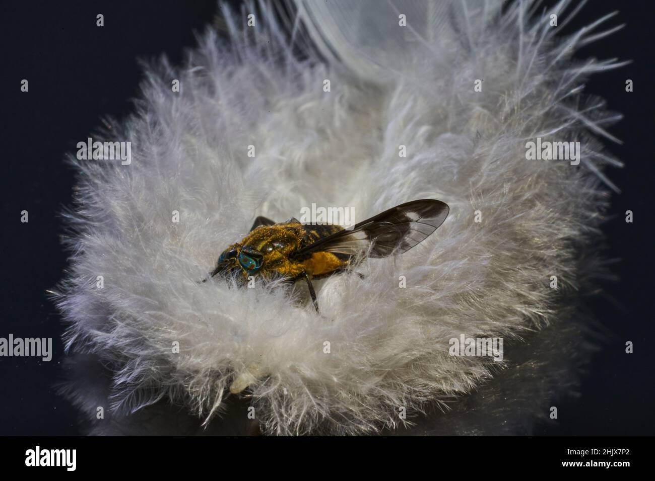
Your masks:
[{"label": "plain dark navy-black background surrounding the white feather", "polygon": [[[580,397],[558,402],[559,419],[540,424],[536,433],[654,435],[652,2],[590,3],[565,31],[616,8],[620,14],[607,25],[627,25],[580,50],[578,58],[633,60],[595,75],[586,86],[588,94],[607,99],[611,110],[624,114],[610,128],[624,144],[606,142],[626,164],[607,171],[622,190],[613,196],[604,226],[607,257],[620,259],[613,267],[619,280],[603,285],[590,306],[614,335],[591,360]],[[0,9],[0,336],[52,337],[54,350],[49,363],[34,357],[0,358],[0,435],[75,435],[76,412],[54,388],[62,376],[61,317],[45,294],[67,264],[58,214],[71,202],[74,173],[64,165],[64,153],[75,152],[75,144],[88,137],[101,116],[121,118],[132,111],[141,79],[137,58],[164,53],[178,64],[185,48],[195,46],[194,31],[203,31],[219,9],[214,0],[22,0],[5,1]],[[96,27],[98,13],[105,16],[104,27]],[[22,79],[29,80],[28,93],[20,92]],[[626,79],[633,80],[634,92],[626,92]],[[20,223],[22,210],[29,211],[29,223]],[[626,210],[634,213],[632,224],[624,221]],[[624,351],[626,340],[635,345],[632,355]]]}]

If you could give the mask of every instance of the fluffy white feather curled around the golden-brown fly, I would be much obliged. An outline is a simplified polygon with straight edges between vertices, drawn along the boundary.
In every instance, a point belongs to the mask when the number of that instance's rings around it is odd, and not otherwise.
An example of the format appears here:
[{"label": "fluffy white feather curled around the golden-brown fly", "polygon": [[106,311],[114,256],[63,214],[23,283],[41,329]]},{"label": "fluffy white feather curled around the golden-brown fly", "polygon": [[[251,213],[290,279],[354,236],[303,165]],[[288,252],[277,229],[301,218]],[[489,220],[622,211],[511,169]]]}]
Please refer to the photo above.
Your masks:
[{"label": "fluffy white feather curled around the golden-brown fly", "polygon": [[[411,419],[491,377],[491,358],[453,357],[450,338],[512,340],[563,321],[561,293],[588,275],[580,248],[607,202],[610,156],[593,135],[612,139],[610,115],[580,90],[620,64],[572,61],[591,31],[559,39],[531,1],[503,14],[491,1],[370,3],[303,2],[303,41],[327,62],[295,58],[266,4],[246,33],[227,13],[229,43],[209,31],[184,67],[153,67],[137,113],[112,126],[107,139],[132,142],[130,166],[71,160],[81,175],[58,302],[68,346],[111,376],[90,401],[69,388],[90,416],[104,396],[114,416],[170,399],[210,419],[238,380],[267,433],[377,431],[405,423],[400,407]],[[580,141],[580,168],[526,160],[538,136]],[[420,198],[449,204],[443,226],[365,261],[364,279],[317,283],[322,315],[305,285],[198,283],[257,215],[283,221],[315,202],[361,221]]]}]

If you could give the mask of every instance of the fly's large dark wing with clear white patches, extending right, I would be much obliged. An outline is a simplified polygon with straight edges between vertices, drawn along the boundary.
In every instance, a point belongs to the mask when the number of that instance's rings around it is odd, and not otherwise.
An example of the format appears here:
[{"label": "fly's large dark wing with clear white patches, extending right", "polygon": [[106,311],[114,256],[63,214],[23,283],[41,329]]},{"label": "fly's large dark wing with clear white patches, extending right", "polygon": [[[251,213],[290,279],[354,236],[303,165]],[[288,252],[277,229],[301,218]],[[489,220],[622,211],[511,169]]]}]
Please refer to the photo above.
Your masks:
[{"label": "fly's large dark wing with clear white patches, extending right", "polygon": [[296,255],[316,251],[355,255],[371,244],[369,257],[387,257],[395,249],[407,252],[437,230],[448,212],[440,200],[413,200],[303,247]]}]

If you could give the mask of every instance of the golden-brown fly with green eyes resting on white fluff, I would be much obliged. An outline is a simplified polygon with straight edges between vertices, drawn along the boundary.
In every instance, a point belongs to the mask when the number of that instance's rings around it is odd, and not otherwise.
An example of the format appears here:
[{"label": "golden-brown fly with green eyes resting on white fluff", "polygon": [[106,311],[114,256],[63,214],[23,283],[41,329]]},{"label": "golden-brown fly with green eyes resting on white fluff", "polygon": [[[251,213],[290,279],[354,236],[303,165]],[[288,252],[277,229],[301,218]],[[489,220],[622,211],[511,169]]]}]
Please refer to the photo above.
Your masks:
[{"label": "golden-brown fly with green eyes resting on white fluff", "polygon": [[312,279],[345,270],[354,259],[361,259],[362,253],[381,258],[396,251],[407,252],[437,230],[448,213],[448,205],[440,200],[414,200],[352,229],[334,224],[301,224],[293,218],[274,223],[260,216],[248,236],[221,253],[210,277],[234,276],[241,285],[250,276],[285,277],[291,282],[305,279],[318,312]]}]

